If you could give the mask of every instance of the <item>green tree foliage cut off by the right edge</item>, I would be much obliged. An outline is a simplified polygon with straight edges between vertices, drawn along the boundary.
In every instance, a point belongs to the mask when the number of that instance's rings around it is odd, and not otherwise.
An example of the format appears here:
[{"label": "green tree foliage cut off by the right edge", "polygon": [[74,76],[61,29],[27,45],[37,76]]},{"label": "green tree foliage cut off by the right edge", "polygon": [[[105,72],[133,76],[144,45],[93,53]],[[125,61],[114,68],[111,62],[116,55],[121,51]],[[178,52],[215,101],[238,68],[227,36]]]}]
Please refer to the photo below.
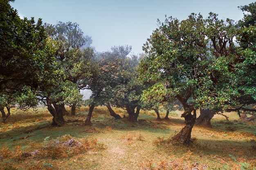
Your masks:
[{"label": "green tree foliage cut off by the right edge", "polygon": [[256,2],[241,6],[239,9],[245,12],[243,20],[239,20],[237,24],[236,39],[240,48],[237,49],[234,63],[239,95],[234,96],[238,104],[231,106],[228,111],[236,111],[240,116],[241,112],[249,114],[256,112]]}]

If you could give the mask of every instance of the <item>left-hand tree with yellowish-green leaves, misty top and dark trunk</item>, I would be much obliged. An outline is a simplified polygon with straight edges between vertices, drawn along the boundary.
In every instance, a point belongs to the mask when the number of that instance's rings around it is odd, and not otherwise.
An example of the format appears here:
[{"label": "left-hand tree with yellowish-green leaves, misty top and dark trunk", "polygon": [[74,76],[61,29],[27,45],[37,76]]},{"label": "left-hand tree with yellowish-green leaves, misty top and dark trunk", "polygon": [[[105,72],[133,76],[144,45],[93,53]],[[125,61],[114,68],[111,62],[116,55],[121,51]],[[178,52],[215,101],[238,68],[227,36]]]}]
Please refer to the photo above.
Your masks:
[{"label": "left-hand tree with yellowish-green leaves, misty top and dark trunk", "polygon": [[55,47],[54,69],[45,75],[39,96],[53,115],[53,125],[65,123],[65,105],[75,108],[82,102],[80,90],[87,86],[91,73],[93,50],[83,48],[87,44],[83,32],[76,23],[58,22],[55,26],[45,24],[47,34]]}]

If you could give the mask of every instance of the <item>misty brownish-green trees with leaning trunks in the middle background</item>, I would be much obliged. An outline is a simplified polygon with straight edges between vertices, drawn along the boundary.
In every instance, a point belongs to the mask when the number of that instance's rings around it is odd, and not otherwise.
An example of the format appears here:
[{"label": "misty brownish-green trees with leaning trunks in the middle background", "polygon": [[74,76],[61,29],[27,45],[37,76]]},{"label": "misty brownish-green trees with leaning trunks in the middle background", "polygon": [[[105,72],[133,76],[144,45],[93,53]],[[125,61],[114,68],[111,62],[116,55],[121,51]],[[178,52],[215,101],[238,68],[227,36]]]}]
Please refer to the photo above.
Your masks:
[{"label": "misty brownish-green trees with leaning trunks in the middle background", "polygon": [[[116,119],[121,117],[111,109],[111,106],[125,108],[130,121],[136,121],[142,92],[139,90],[141,84],[137,81],[138,58],[135,55],[127,56],[131,46],[115,46],[111,50],[97,56],[98,69],[95,69],[95,75],[88,84],[92,90],[92,96],[88,100],[90,108],[93,110],[94,106],[106,105],[110,115]],[[90,116],[91,112],[86,124],[90,124]]]}]

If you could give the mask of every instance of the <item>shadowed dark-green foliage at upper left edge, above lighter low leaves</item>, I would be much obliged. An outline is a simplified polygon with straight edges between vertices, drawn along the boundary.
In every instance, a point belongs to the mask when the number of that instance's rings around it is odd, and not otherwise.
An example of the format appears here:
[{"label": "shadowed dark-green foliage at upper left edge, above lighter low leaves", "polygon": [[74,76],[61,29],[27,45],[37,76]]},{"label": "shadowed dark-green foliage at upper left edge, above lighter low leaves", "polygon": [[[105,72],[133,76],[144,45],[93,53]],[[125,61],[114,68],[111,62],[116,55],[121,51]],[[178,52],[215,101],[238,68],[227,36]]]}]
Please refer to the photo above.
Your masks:
[{"label": "shadowed dark-green foliage at upper left edge, above lighter low leaves", "polygon": [[36,89],[45,63],[53,60],[47,55],[42,20],[20,19],[10,2],[13,0],[0,1],[0,93],[23,85]]}]

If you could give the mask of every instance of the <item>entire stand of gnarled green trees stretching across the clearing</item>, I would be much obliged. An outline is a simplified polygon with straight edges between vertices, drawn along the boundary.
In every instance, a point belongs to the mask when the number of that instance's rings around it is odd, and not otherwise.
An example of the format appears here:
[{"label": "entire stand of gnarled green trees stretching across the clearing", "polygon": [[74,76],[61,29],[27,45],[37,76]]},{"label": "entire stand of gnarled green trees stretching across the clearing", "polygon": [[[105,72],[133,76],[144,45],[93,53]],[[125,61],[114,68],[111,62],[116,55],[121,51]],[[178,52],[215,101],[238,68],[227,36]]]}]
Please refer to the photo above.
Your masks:
[{"label": "entire stand of gnarled green trees stretching across the clearing", "polygon": [[[220,20],[191,13],[186,20],[158,20],[148,38],[144,57],[128,54],[131,46],[114,46],[94,53],[92,39],[79,24],[21,19],[11,8],[13,0],[0,1],[0,111],[4,120],[10,107],[35,106],[38,99],[53,115],[52,124],[65,123],[65,105],[71,114],[80,106],[85,88],[92,95],[85,124],[91,124],[95,106],[124,108],[130,121],[140,109],[183,106],[185,127],[172,139],[189,143],[197,122],[211,126],[214,114],[256,109],[256,3],[239,7],[243,20]],[[236,38],[236,39],[235,39]],[[235,46],[238,42],[238,46]],[[179,106],[179,104],[177,106]],[[7,108],[7,115],[4,112]],[[196,119],[196,110],[200,116]]]}]

